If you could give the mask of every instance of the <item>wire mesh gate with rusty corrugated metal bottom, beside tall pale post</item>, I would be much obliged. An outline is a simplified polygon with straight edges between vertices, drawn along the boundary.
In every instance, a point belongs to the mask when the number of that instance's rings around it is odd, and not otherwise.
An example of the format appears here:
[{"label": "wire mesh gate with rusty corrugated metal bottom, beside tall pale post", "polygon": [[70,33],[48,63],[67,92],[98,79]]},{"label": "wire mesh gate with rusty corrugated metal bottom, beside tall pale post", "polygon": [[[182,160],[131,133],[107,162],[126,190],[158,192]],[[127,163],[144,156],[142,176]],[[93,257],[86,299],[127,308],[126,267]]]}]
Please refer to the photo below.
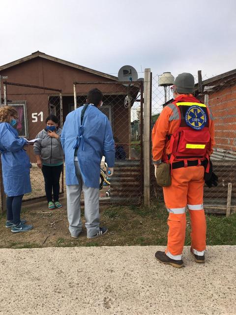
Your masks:
[{"label": "wire mesh gate with rusty corrugated metal bottom, beside tall pale post", "polygon": [[[101,186],[100,200],[113,204],[138,204],[143,197],[143,82],[75,82],[76,106],[86,103],[90,89],[103,93],[100,110],[108,117],[115,140],[115,169]],[[137,108],[137,114],[132,114]],[[73,110],[74,107],[71,107]],[[105,160],[101,168],[106,171]]]}]

